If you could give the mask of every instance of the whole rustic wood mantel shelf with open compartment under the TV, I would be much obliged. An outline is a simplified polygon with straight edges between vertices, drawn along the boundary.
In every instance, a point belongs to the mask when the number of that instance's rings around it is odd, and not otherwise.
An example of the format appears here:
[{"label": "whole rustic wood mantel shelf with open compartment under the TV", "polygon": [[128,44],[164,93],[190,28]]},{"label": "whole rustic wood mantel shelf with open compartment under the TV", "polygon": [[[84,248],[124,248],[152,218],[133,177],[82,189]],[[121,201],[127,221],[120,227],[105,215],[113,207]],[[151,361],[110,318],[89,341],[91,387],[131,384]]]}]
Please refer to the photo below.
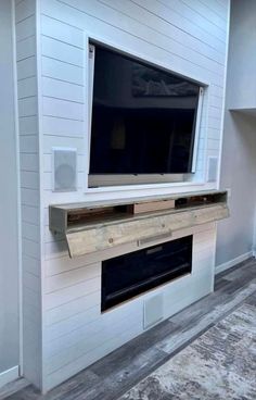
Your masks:
[{"label": "whole rustic wood mantel shelf with open compartment under the TV", "polygon": [[[168,207],[162,204],[165,201]],[[65,235],[71,258],[131,241],[139,246],[171,237],[175,230],[229,216],[227,192],[217,190],[104,203],[60,204],[49,209],[50,229]]]}]

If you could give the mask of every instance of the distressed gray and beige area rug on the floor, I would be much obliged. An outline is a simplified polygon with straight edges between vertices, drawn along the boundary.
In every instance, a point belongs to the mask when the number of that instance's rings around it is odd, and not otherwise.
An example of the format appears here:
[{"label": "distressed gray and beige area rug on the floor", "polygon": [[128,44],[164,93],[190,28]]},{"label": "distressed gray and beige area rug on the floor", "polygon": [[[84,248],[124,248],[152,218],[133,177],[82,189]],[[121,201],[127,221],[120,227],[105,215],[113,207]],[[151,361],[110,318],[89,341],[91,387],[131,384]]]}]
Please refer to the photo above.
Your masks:
[{"label": "distressed gray and beige area rug on the floor", "polygon": [[255,400],[256,307],[243,303],[119,400]]}]

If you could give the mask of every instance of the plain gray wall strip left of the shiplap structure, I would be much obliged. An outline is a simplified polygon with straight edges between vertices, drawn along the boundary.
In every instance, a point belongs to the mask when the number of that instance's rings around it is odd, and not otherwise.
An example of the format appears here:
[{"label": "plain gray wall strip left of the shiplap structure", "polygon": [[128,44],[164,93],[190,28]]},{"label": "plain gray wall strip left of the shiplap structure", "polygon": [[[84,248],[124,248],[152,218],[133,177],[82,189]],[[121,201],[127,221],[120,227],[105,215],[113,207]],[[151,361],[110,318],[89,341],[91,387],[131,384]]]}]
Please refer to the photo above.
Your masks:
[{"label": "plain gray wall strip left of the shiplap structure", "polygon": [[17,165],[11,1],[0,1],[0,386],[18,365]]}]

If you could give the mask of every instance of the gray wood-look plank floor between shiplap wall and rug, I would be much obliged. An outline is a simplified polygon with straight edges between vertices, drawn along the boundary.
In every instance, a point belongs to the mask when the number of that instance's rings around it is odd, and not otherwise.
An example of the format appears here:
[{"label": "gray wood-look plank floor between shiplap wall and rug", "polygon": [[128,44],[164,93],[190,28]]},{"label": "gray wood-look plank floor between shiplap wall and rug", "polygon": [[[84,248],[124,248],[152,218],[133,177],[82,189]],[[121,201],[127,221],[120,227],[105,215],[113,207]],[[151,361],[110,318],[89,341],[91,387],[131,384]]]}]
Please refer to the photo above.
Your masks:
[{"label": "gray wood-look plank floor between shiplap wall and rug", "polygon": [[42,396],[25,379],[0,400],[116,400],[242,303],[256,305],[256,261],[219,274],[215,292],[129,341]]}]

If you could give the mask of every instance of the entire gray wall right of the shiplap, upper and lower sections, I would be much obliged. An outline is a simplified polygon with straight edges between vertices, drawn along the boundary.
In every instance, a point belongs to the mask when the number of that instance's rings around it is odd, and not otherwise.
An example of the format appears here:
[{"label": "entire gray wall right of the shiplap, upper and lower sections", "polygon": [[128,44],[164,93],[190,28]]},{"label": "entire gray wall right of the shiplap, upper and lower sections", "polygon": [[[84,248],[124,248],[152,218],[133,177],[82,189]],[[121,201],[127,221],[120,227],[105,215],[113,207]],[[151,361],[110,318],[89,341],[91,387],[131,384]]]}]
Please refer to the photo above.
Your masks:
[{"label": "entire gray wall right of the shiplap, upper and lower sections", "polygon": [[246,257],[253,248],[256,116],[249,111],[230,112],[229,107],[235,103],[239,108],[246,109],[249,103],[252,105],[255,97],[256,77],[252,60],[255,58],[255,1],[232,1],[220,179],[221,188],[231,189],[231,217],[218,224],[217,267],[226,263],[229,265],[232,260],[240,260],[244,254]]}]

